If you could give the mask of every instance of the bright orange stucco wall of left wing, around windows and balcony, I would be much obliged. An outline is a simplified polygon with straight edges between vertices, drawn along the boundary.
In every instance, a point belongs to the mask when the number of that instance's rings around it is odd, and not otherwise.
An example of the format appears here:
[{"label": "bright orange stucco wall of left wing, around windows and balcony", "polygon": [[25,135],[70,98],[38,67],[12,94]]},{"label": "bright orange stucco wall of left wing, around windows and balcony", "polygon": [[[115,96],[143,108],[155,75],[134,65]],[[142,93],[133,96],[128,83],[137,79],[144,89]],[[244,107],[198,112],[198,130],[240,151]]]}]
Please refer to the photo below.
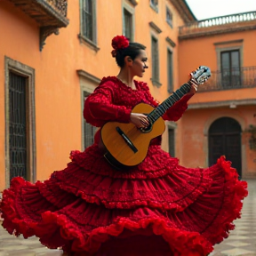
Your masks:
[{"label": "bright orange stucco wall of left wing, around windows and balcony", "polygon": [[[122,8],[128,1],[115,4],[97,1],[97,45],[98,52],[78,38],[80,33],[79,1],[68,1],[67,28],[60,28],[60,35],[49,36],[42,52],[39,51],[39,28],[36,21],[21,12],[9,1],[0,2],[0,191],[5,188],[5,117],[4,117],[4,56],[17,60],[36,71],[36,180],[45,180],[54,170],[65,168],[69,151],[82,149],[82,102],[79,76],[82,69],[101,78],[116,76],[118,68],[111,58],[111,39],[123,31]],[[161,2],[162,3],[162,2]],[[165,21],[165,4],[159,4],[156,13],[148,1],[140,1],[134,8],[135,41],[145,44],[148,52],[148,70],[143,77],[148,82],[156,99],[162,101],[167,92],[167,47],[173,51],[174,84],[179,87],[178,74],[178,31],[183,24],[179,12],[171,3],[166,3],[173,14],[171,28]],[[132,5],[130,5],[132,6]],[[108,13],[108,14],[106,14]],[[116,22],[116,20],[119,20]],[[163,31],[160,34],[150,28],[154,21]],[[159,40],[160,88],[153,86],[151,77],[151,34]],[[172,48],[165,41],[169,36],[175,42]],[[167,133],[164,133],[163,148],[168,148]],[[8,172],[8,170],[7,170]]]}]

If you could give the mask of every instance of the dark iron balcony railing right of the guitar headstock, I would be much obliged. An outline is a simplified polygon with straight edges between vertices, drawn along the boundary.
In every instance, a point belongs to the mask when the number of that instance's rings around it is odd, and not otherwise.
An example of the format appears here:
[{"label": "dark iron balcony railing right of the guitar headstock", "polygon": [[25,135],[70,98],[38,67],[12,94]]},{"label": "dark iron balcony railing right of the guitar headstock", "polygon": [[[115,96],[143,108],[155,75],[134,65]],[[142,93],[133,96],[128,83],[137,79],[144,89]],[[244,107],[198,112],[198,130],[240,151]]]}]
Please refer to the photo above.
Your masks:
[{"label": "dark iron balcony railing right of the guitar headstock", "polygon": [[256,87],[256,67],[226,68],[212,71],[212,76],[199,86],[198,92]]}]

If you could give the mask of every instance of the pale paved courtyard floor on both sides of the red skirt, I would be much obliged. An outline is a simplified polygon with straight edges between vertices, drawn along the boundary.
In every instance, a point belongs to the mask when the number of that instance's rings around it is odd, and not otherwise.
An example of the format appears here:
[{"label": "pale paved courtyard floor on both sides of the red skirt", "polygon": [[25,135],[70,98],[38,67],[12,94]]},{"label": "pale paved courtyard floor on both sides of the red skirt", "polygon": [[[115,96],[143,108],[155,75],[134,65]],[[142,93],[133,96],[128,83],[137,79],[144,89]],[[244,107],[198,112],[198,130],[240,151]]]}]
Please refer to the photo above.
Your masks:
[{"label": "pale paved courtyard floor on both sides of the red skirt", "polygon": [[[236,229],[209,256],[256,256],[256,180],[248,180],[248,185],[249,196],[244,200],[242,219],[235,221]],[[35,236],[23,239],[10,236],[0,228],[0,256],[60,255],[61,250],[47,249]]]}]

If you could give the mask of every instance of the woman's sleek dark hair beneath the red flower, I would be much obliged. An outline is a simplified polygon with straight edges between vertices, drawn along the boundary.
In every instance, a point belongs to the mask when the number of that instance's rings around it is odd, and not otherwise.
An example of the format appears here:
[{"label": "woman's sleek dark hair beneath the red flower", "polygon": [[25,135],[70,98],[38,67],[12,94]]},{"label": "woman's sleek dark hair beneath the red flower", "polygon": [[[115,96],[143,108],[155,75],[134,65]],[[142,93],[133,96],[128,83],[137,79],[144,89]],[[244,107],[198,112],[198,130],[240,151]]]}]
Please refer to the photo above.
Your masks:
[{"label": "woman's sleek dark hair beneath the red flower", "polygon": [[116,50],[116,63],[120,68],[124,67],[124,58],[130,56],[134,60],[140,50],[145,50],[146,46],[139,43],[130,43],[128,47]]}]

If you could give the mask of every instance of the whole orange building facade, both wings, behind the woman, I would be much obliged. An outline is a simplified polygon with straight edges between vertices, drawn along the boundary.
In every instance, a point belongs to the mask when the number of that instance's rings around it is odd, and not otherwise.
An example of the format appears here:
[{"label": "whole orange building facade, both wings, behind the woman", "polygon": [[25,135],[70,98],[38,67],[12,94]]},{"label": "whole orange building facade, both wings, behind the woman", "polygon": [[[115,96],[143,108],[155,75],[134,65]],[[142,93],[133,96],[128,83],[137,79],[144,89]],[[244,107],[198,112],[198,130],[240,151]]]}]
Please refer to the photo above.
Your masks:
[{"label": "whole orange building facade, both wings, behind the woman", "polygon": [[256,177],[255,12],[221,23],[196,20],[185,0],[111,3],[0,1],[0,191],[15,176],[48,179],[92,144],[84,99],[117,75],[116,35],[147,46],[143,81],[160,102],[198,66],[212,69],[180,121],[166,123],[164,150],[191,167],[225,154],[242,178]]}]

